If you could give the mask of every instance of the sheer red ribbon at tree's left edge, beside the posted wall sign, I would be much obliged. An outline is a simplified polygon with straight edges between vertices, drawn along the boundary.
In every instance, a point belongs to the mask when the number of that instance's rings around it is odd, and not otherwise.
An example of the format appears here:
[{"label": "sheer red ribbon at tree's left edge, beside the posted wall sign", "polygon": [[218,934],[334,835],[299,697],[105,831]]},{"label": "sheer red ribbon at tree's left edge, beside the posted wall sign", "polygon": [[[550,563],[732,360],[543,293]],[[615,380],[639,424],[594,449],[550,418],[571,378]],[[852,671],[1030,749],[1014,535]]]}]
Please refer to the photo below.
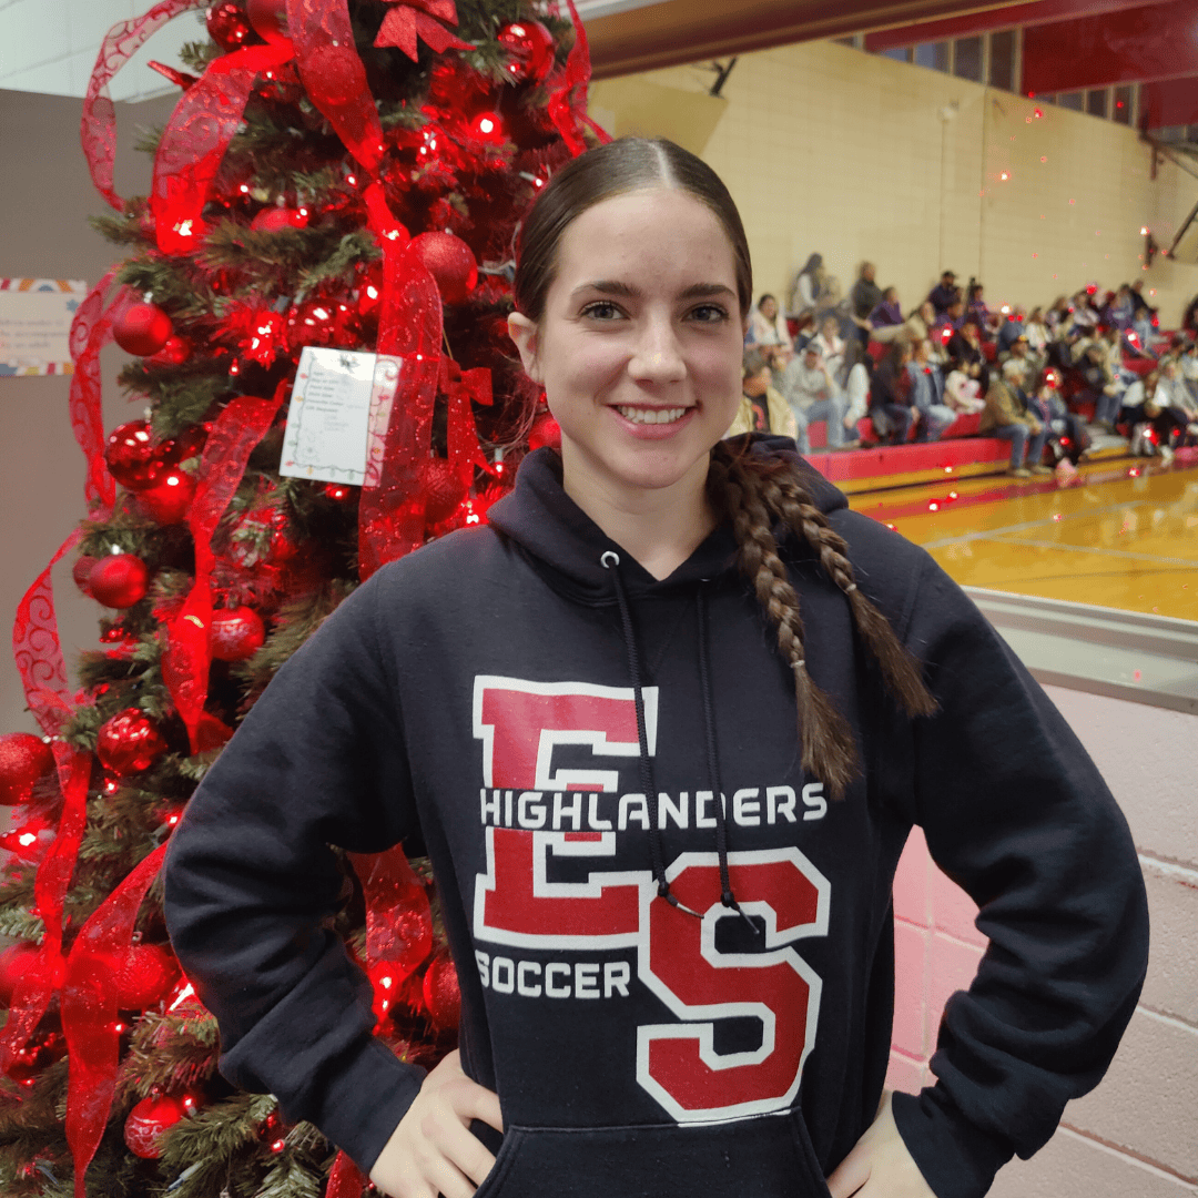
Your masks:
[{"label": "sheer red ribbon at tree's left edge, beside the posted wall sign", "polygon": [[93,519],[105,520],[116,502],[116,483],[104,461],[104,412],[101,406],[99,351],[113,339],[113,325],[133,300],[128,288],[121,288],[104,307],[104,296],[116,278],[114,266],[79,304],[71,321],[71,428],[87,459],[84,496]]}]

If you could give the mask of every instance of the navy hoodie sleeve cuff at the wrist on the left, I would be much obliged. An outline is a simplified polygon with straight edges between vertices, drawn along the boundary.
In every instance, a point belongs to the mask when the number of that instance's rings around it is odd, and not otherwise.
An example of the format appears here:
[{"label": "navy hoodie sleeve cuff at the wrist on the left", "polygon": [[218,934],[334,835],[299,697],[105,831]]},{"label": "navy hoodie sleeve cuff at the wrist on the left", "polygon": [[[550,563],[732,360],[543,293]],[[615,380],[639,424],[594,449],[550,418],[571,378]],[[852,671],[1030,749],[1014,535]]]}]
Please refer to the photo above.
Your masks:
[{"label": "navy hoodie sleeve cuff at the wrist on the left", "polygon": [[[374,1036],[338,1063],[311,1121],[363,1172],[374,1168],[400,1119],[407,1113],[424,1070],[401,1061]],[[363,1102],[365,1095],[371,1101]]]}]

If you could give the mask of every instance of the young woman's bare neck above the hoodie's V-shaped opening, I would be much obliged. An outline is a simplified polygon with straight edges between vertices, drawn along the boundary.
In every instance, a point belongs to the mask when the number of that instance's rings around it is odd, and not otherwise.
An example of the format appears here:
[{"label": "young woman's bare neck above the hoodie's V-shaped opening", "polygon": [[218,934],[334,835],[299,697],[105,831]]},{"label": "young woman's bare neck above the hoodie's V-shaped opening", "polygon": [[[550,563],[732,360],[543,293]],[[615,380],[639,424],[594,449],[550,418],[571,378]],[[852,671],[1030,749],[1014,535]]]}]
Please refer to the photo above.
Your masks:
[{"label": "young woman's bare neck above the hoodie's V-shaped opening", "polygon": [[592,468],[568,441],[562,444],[567,495],[655,579],[666,579],[715,527],[707,502],[708,458],[662,488],[624,485]]}]

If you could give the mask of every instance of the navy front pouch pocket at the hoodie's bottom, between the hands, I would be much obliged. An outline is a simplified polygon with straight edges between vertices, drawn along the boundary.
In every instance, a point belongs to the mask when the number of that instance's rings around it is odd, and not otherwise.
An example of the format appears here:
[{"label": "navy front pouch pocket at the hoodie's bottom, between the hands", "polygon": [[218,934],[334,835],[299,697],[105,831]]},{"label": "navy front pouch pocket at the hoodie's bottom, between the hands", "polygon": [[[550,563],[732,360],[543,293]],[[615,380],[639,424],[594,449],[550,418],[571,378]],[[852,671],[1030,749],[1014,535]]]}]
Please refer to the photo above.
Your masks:
[{"label": "navy front pouch pocket at the hoodie's bottom, between the hands", "polygon": [[474,1198],[829,1198],[794,1112],[702,1127],[509,1127]]}]

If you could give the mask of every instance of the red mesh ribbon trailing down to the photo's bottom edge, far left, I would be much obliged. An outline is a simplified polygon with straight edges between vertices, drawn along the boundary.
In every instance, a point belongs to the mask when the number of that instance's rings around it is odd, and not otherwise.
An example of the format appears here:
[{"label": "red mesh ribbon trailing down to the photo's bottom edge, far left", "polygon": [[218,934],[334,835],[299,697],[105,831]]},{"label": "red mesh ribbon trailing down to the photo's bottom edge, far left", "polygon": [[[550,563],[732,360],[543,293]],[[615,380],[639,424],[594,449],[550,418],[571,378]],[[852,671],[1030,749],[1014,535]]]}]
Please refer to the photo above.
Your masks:
[{"label": "red mesh ribbon trailing down to the photo's bottom edge, far left", "polygon": [[86,1198],[87,1166],[96,1155],[116,1090],[121,1034],[113,973],[128,951],[138,908],[158,876],[165,843],[125,877],[83,926],[62,984],[62,1031],[71,1060],[67,1143],[74,1158],[75,1198]]}]

